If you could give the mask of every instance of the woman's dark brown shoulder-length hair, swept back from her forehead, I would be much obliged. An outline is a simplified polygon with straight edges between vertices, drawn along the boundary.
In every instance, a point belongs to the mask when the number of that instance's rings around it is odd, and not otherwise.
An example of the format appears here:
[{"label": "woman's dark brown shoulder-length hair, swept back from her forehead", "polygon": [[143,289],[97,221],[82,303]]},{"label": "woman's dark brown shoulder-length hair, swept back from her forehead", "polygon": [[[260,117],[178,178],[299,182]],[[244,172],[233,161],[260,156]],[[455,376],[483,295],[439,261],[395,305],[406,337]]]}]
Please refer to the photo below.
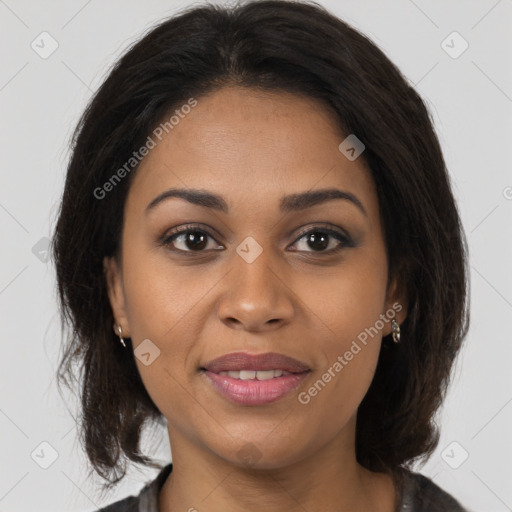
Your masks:
[{"label": "woman's dark brown shoulder-length hair, swept back from her forehead", "polygon": [[80,383],[87,456],[105,487],[128,459],[160,467],[139,441],[146,422],[162,421],[133,350],[113,331],[102,266],[119,254],[136,167],[108,197],[94,191],[176,106],[230,84],[318,99],[366,146],[389,279],[399,278],[409,307],[403,342],[383,340],[358,412],[356,455],[368,469],[399,473],[439,440],[435,414],[468,329],[464,233],[430,114],[407,79],[323,7],[279,0],[193,7],[160,23],[115,64],[78,123],[52,251],[62,325],[71,327],[59,386],[75,375]]}]

